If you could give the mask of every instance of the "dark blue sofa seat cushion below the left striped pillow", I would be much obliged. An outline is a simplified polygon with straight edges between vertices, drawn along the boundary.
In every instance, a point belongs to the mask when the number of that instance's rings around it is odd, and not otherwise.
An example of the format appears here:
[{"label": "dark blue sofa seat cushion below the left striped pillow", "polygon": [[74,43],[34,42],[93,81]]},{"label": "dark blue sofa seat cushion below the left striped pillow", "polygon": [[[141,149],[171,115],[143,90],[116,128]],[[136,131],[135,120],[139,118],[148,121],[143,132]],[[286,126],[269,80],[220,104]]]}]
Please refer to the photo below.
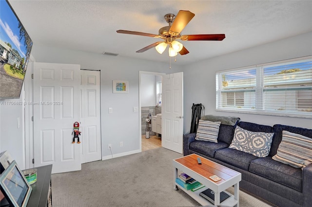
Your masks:
[{"label": "dark blue sofa seat cushion below the left striped pillow", "polygon": [[215,157],[215,151],[227,148],[228,146],[229,145],[227,143],[222,141],[219,141],[218,143],[208,141],[193,141],[190,143],[190,150],[210,157]]}]

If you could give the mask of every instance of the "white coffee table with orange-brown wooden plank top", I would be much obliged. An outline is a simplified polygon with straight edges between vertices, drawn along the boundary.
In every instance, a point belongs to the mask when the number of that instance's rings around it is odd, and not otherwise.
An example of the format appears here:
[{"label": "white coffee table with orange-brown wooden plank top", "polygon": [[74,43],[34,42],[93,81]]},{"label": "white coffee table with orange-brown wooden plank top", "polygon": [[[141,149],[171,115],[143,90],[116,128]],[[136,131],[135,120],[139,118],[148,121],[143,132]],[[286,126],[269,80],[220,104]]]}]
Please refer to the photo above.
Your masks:
[{"label": "white coffee table with orange-brown wooden plank top", "polygon": [[[197,157],[201,159],[201,165],[197,163]],[[225,201],[221,203],[222,206],[237,206],[239,207],[239,182],[241,181],[241,173],[238,173],[230,168],[222,166],[215,163],[209,159],[202,156],[192,154],[186,155],[173,160],[173,165],[175,167],[175,177],[174,177],[174,189],[177,187],[192,198],[194,198],[202,206],[211,205],[211,203],[199,195],[200,192],[207,190],[208,188],[215,191],[215,203],[214,205],[220,205],[220,192],[234,186],[234,195],[225,191],[230,195]],[[196,191],[186,190],[182,186],[176,183],[176,178],[178,177],[178,170],[183,173],[188,174],[198,182],[205,185],[204,188],[198,189]],[[209,177],[212,175],[217,175],[222,180],[213,181]]]}]

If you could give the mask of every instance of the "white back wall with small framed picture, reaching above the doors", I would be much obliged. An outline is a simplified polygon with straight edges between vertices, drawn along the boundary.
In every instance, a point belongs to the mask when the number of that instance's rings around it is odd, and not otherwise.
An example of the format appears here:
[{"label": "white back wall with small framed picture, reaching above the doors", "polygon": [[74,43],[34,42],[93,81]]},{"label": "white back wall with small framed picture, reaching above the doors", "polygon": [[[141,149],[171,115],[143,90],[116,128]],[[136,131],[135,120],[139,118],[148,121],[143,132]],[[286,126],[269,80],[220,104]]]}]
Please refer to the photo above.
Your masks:
[{"label": "white back wall with small framed picture, reaching above the doors", "polygon": [[[115,156],[139,152],[140,117],[139,112],[133,112],[133,107],[139,106],[139,71],[174,73],[180,68],[176,66],[169,70],[169,63],[37,45],[33,46],[32,54],[37,62],[79,64],[82,69],[100,70],[101,141],[104,159],[111,157],[108,144],[112,144]],[[113,80],[129,81],[129,93],[113,93]],[[109,107],[113,108],[112,114],[108,113]],[[123,141],[123,147],[119,147],[120,141]]]}]

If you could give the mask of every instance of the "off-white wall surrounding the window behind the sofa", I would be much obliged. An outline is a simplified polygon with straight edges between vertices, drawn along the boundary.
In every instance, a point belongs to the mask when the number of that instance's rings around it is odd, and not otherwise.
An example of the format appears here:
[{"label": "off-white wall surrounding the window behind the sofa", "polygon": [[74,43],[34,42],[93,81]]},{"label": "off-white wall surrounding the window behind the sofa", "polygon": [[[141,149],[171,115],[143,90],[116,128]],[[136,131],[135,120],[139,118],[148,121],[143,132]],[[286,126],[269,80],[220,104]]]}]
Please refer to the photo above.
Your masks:
[{"label": "off-white wall surrounding the window behind the sofa", "polygon": [[216,71],[308,55],[312,55],[312,32],[184,66],[184,133],[190,132],[193,103],[203,104],[205,114],[237,116],[241,121],[271,126],[285,124],[311,129],[311,119],[215,111]]}]

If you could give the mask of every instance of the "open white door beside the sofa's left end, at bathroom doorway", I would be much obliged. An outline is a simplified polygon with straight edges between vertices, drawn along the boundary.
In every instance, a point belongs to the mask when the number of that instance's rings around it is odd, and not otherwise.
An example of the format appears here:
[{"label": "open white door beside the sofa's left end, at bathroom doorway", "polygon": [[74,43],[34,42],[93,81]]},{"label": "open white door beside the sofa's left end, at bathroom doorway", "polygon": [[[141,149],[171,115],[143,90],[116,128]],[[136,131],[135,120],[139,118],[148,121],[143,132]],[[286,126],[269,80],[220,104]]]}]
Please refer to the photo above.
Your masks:
[{"label": "open white door beside the sofa's left end, at bathroom doorway", "polygon": [[161,94],[161,145],[182,154],[183,72],[164,75]]}]

